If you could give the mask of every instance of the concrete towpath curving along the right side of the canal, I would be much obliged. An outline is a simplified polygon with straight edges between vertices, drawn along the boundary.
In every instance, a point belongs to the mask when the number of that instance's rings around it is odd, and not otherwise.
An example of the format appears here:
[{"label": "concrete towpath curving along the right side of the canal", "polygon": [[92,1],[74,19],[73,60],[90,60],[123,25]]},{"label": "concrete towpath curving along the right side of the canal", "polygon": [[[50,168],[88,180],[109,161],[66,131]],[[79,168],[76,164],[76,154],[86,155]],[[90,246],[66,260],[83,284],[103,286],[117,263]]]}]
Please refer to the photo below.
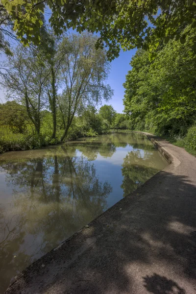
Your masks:
[{"label": "concrete towpath curving along the right side of the canal", "polygon": [[172,163],[19,274],[6,294],[196,294],[196,158],[156,140]]}]

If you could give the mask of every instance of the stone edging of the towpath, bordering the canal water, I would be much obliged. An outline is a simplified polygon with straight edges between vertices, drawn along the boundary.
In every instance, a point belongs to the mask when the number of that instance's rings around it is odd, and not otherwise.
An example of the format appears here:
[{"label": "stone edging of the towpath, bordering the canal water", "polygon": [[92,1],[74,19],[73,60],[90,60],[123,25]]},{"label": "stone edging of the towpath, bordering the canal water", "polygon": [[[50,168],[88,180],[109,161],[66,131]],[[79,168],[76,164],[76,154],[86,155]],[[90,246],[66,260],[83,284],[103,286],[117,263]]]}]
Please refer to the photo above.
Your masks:
[{"label": "stone edging of the towpath, bordering the canal water", "polygon": [[[161,137],[157,137],[156,135],[153,135],[153,134],[150,134],[150,133],[147,133],[147,132],[142,132],[142,131],[132,131],[132,132],[140,133],[140,134],[143,134],[143,135],[147,136],[148,140],[150,140],[152,142],[154,147],[156,149],[158,149],[158,151],[168,161],[169,165],[166,166],[162,171],[171,172],[178,165],[180,165],[181,162],[171,152],[169,152],[163,146],[164,142],[166,144],[171,144],[167,140],[162,139]],[[111,206],[109,209],[107,209],[105,212],[103,212],[101,215],[99,215],[97,218],[95,218],[89,224],[82,227],[79,231],[75,232],[72,236],[70,236],[69,238],[67,238],[65,240],[62,240],[60,245],[54,247],[49,252],[47,252],[45,255],[43,255],[42,257],[40,257],[39,259],[37,259],[36,261],[31,263],[29,266],[27,266],[24,270],[19,272],[13,278],[13,280],[9,284],[9,286],[6,289],[6,291],[4,292],[4,294],[10,294],[10,293],[11,294],[15,294],[15,293],[17,293],[17,294],[20,293],[21,294],[21,293],[23,293],[24,288],[25,289],[28,288],[28,282],[26,283],[25,278],[28,277],[27,281],[29,281],[29,278],[31,279],[34,274],[38,275],[38,276],[42,275],[42,273],[46,270],[46,268],[42,267],[42,265],[45,265],[48,262],[48,266],[52,266],[52,263],[54,261],[53,257],[57,257],[57,260],[60,257],[59,255],[61,255],[61,253],[60,253],[61,248],[62,248],[63,251],[67,251],[67,252],[69,252],[71,254],[77,252],[78,249],[80,250],[80,248],[83,247],[83,245],[86,244],[86,241],[88,239],[91,239],[91,236],[89,236],[89,233],[91,235],[90,231],[91,231],[92,225],[100,226],[100,220],[102,218],[107,220],[107,214],[108,213],[115,213],[115,212],[121,210],[122,209],[121,207],[124,206],[126,201],[129,201],[130,197],[131,197],[131,200],[132,200],[132,204],[134,205],[134,203],[138,201],[138,192],[140,192],[140,189],[143,188],[146,184],[149,184],[150,180],[152,178],[156,177],[162,171],[157,172],[156,174],[154,174],[152,177],[150,177],[144,184],[142,184],[136,190],[134,190],[133,192],[131,192],[127,196],[123,197],[120,201],[115,203],[113,206]],[[124,209],[125,209],[125,207],[124,207]],[[94,244],[94,242],[93,242],[93,244]],[[85,247],[86,248],[85,248],[84,251],[86,251],[88,249],[89,245],[87,245],[87,246],[85,245]],[[80,254],[82,254],[84,251],[80,252]],[[78,254],[78,256],[80,254]],[[49,257],[49,258],[47,258],[47,257]],[[71,262],[71,264],[72,264],[72,262]],[[16,285],[16,288],[18,288],[17,290],[19,290],[19,292],[15,292],[15,290],[16,290],[15,284],[18,284],[18,285]],[[20,286],[21,286],[21,288],[20,288]]]}]

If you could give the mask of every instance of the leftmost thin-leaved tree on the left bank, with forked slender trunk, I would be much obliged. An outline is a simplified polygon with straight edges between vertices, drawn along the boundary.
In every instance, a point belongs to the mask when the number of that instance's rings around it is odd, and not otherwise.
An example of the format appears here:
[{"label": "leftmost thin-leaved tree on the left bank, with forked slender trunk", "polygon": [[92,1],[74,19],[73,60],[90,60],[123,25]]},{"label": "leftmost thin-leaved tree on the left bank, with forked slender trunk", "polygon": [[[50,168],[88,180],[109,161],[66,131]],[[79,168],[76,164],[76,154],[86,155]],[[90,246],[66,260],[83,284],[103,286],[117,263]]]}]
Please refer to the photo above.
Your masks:
[{"label": "leftmost thin-leaved tree on the left bank, with forked slender trunk", "polygon": [[32,50],[22,46],[9,56],[2,85],[8,97],[15,98],[26,106],[29,119],[40,133],[41,110],[47,105],[45,83],[50,74],[44,62]]}]

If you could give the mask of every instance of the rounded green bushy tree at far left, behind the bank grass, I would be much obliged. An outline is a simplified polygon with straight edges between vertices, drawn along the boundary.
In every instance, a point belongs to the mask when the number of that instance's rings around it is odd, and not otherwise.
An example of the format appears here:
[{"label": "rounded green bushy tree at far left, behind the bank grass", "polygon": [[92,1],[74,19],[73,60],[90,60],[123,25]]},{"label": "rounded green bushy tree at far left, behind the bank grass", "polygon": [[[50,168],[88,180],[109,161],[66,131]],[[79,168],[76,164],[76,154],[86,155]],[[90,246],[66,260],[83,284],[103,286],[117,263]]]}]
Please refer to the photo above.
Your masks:
[{"label": "rounded green bushy tree at far left, behind the bank grass", "polygon": [[25,106],[16,101],[0,104],[0,125],[7,125],[15,132],[24,133],[27,120]]}]

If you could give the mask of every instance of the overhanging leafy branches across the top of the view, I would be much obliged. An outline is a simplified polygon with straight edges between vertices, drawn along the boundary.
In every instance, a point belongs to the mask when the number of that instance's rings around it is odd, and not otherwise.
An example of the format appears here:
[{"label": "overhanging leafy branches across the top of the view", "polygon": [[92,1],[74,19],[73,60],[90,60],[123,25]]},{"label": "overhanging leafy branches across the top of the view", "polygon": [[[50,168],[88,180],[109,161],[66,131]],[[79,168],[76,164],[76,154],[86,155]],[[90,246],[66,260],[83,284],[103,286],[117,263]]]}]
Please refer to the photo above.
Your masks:
[{"label": "overhanging leafy branches across the top of the view", "polygon": [[[55,33],[70,28],[77,32],[100,32],[97,46],[109,48],[108,57],[118,56],[120,49],[149,47],[156,49],[162,38],[180,38],[186,25],[196,27],[195,0],[1,0],[9,12],[17,35],[27,42],[39,42],[43,22],[40,13],[45,5],[51,9],[50,25]],[[151,25],[149,25],[149,22]],[[152,45],[153,44],[153,45]]]}]

